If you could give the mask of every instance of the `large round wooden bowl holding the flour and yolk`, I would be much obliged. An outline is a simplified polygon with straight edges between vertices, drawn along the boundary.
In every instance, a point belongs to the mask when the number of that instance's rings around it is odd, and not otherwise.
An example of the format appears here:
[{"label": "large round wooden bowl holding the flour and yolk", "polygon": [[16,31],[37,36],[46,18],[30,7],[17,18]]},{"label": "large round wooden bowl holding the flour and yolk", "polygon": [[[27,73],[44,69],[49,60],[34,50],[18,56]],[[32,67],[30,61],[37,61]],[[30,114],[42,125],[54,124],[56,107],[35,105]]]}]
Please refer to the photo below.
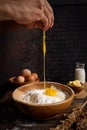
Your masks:
[{"label": "large round wooden bowl holding the flour and yolk", "polygon": [[46,82],[46,87],[55,86],[66,94],[66,99],[57,103],[50,104],[35,104],[24,102],[21,98],[26,92],[35,89],[43,89],[44,82],[37,82],[32,84],[23,85],[15,89],[12,93],[12,98],[15,101],[18,108],[31,118],[39,120],[48,120],[56,117],[59,113],[64,112],[69,108],[70,104],[74,99],[74,91],[63,84],[56,82]]}]

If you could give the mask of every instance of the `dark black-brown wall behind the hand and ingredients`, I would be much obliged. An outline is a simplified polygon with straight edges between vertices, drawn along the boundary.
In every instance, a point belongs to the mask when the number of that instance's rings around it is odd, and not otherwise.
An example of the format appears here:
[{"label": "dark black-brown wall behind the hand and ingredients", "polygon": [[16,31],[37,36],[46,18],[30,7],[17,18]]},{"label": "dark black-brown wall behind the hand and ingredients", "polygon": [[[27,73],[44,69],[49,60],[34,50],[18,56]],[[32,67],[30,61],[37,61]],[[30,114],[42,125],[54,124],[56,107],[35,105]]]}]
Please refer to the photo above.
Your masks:
[{"label": "dark black-brown wall behind the hand and ingredients", "polygon": [[[47,31],[46,79],[66,83],[74,79],[76,62],[87,70],[86,0],[49,0],[55,24]],[[7,25],[8,26],[8,25]],[[3,32],[2,32],[3,30]],[[8,79],[28,68],[43,80],[42,31],[10,30],[0,26],[0,91]]]}]

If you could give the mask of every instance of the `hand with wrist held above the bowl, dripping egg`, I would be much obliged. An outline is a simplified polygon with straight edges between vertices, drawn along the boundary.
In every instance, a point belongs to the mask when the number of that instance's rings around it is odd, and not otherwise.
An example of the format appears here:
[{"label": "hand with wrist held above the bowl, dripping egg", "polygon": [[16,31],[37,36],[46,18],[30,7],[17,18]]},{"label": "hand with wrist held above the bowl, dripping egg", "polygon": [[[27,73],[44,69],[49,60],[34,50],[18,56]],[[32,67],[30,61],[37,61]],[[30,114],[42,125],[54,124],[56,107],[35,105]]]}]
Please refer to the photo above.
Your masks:
[{"label": "hand with wrist held above the bowl, dripping egg", "polygon": [[54,24],[53,10],[47,0],[4,0],[4,2],[10,19],[29,29],[48,30]]}]

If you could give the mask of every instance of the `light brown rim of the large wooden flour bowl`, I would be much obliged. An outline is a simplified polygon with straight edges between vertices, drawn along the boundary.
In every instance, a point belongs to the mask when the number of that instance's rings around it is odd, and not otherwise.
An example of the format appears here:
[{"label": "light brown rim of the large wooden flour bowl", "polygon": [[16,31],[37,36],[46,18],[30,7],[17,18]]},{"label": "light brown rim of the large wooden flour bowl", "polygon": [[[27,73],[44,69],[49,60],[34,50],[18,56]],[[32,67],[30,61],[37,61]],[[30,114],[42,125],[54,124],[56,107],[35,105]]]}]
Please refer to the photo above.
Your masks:
[{"label": "light brown rim of the large wooden flour bowl", "polygon": [[[63,101],[61,101],[61,102],[55,102],[55,103],[48,103],[48,104],[35,104],[35,103],[31,103],[31,102],[24,102],[24,101],[21,101],[21,100],[17,100],[17,99],[15,99],[14,98],[14,94],[15,94],[15,92],[16,91],[18,91],[18,89],[20,89],[20,88],[23,88],[23,87],[27,87],[27,86],[30,86],[30,85],[35,85],[35,84],[37,84],[37,83],[44,83],[44,81],[41,81],[41,82],[34,82],[34,83],[29,83],[29,84],[25,84],[25,85],[22,85],[22,86],[20,86],[20,87],[18,87],[18,88],[16,88],[13,92],[12,92],[12,98],[13,98],[13,100],[14,101],[16,101],[16,102],[18,102],[18,103],[22,103],[22,104],[24,104],[24,105],[28,105],[28,106],[38,106],[38,107],[43,107],[43,106],[56,106],[56,105],[60,105],[60,104],[64,104],[64,103],[66,103],[66,102],[68,102],[69,100],[73,100],[74,99],[74,97],[75,97],[75,92],[74,92],[74,90],[72,89],[72,88],[70,88],[69,86],[67,86],[67,85],[65,85],[65,84],[62,84],[62,83],[58,83],[58,82],[52,82],[52,81],[46,81],[47,83],[54,83],[54,84],[60,84],[60,85],[63,85],[65,88],[67,88],[67,89],[69,89],[70,91],[71,91],[71,95],[67,98],[67,99],[65,99],[65,100],[63,100]],[[19,90],[20,91],[20,90]]]}]

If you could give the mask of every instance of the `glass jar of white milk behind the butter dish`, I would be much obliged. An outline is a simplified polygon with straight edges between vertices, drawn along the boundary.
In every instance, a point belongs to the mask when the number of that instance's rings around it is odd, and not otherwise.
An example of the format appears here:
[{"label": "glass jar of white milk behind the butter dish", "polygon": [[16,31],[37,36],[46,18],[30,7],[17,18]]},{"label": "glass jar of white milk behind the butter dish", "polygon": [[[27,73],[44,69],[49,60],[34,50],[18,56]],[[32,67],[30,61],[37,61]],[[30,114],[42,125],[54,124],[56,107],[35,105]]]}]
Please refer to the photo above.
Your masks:
[{"label": "glass jar of white milk behind the butter dish", "polygon": [[85,82],[86,76],[85,76],[85,64],[84,63],[76,63],[75,80],[79,80],[81,83]]}]

